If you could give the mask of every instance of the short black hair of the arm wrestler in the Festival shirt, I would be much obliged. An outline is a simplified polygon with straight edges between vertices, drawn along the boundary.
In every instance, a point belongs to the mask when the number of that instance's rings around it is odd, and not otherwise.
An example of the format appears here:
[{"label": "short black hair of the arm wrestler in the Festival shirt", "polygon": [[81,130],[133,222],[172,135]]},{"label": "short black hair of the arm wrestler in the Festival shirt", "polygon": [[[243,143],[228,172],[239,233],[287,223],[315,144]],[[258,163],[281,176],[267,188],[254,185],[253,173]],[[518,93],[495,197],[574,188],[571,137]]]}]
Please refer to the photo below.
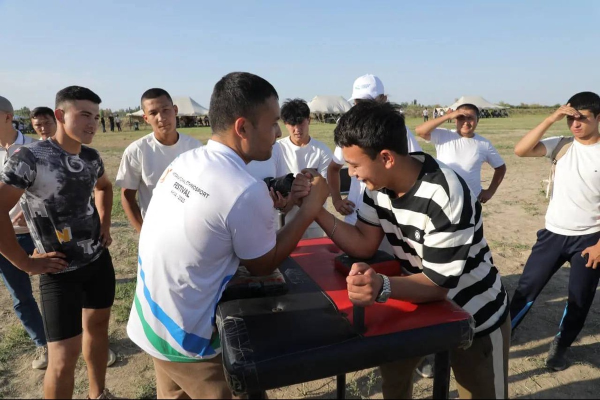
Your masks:
[{"label": "short black hair of the arm wrestler in the Festival shirt", "polygon": [[256,108],[271,97],[279,99],[277,90],[265,79],[249,72],[230,72],[212,90],[208,110],[212,132],[225,131],[239,117],[256,124]]}]

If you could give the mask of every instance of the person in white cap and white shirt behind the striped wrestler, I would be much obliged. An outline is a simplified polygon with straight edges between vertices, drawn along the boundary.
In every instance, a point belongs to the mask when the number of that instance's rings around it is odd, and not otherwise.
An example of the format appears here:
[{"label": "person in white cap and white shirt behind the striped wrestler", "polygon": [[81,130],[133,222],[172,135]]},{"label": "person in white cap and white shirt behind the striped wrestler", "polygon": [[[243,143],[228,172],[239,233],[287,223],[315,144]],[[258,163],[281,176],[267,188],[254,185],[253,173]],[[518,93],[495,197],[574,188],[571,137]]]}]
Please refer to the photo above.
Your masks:
[{"label": "person in white cap and white shirt behind the striped wrestler", "polygon": [[[388,96],[385,95],[382,81],[375,75],[367,74],[356,78],[352,85],[352,96],[350,100],[354,104],[358,104],[364,100],[376,100],[379,102],[387,102]],[[423,110],[423,115],[427,115],[427,108]],[[423,151],[419,143],[415,139],[415,135],[406,127],[406,140],[408,143],[409,153],[415,151]],[[341,147],[336,146],[332,162],[327,168],[327,183],[331,192],[331,201],[335,210],[344,216],[344,221],[355,225],[356,215],[362,204],[362,196],[365,193],[365,184],[358,181],[355,176],[350,177],[350,190],[348,196],[343,199],[340,193],[340,171],[344,165],[344,157],[341,153]],[[390,250],[388,241],[384,238],[382,241],[382,250]],[[391,251],[389,251],[391,253]]]}]

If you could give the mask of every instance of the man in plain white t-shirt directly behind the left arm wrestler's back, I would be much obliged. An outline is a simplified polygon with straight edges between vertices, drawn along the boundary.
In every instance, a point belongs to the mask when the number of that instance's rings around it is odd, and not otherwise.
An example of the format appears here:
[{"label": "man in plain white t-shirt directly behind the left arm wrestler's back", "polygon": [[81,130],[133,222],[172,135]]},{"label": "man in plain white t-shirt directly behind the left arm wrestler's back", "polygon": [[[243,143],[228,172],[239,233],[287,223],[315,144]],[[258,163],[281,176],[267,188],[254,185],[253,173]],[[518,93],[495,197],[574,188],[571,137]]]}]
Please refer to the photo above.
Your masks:
[{"label": "man in plain white t-shirt directly behind the left arm wrestler's back", "polygon": [[[116,174],[121,187],[121,205],[127,219],[139,233],[163,171],[179,154],[202,146],[199,140],[176,130],[177,106],[164,89],[148,89],[142,95],[144,120],[153,132],[127,146]],[[137,199],[136,199],[137,195]]]}]

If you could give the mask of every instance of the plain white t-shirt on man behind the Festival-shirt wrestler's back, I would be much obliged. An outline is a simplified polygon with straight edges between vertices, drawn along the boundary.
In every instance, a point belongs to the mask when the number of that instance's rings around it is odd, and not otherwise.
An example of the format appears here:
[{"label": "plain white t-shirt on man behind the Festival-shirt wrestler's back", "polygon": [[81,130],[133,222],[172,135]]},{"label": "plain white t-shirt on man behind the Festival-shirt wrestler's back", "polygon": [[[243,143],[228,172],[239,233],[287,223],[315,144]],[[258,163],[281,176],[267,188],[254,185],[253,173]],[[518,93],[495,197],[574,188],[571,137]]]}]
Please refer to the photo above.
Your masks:
[{"label": "plain white t-shirt on man behind the Festival-shirt wrestler's back", "polygon": [[137,204],[145,218],[152,190],[164,169],[185,151],[202,146],[199,140],[179,134],[179,140],[172,146],[160,143],[154,132],[139,138],[127,146],[116,174],[116,186],[137,190]]}]

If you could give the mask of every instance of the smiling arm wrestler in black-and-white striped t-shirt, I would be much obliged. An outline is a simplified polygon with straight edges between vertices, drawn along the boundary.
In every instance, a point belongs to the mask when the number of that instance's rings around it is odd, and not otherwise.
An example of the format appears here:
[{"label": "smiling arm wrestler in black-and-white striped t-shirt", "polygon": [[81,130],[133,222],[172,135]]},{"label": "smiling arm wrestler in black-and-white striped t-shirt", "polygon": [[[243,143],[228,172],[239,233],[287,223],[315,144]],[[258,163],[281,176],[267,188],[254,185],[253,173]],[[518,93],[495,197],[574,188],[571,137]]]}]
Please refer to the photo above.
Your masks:
[{"label": "smiling arm wrestler in black-and-white striped t-shirt", "polygon": [[[355,105],[341,117],[334,139],[350,175],[367,186],[364,204],[355,226],[325,208],[317,223],[340,249],[362,259],[373,256],[385,235],[412,272],[386,277],[355,263],[347,278],[350,300],[370,305],[389,297],[428,302],[448,296],[475,319],[472,346],[450,355],[460,398],[506,398],[508,296],[484,238],[481,204],[451,168],[425,153],[408,154],[404,117],[395,105]],[[296,179],[295,195],[308,191],[308,178]],[[384,398],[410,398],[418,362],[380,366]]]}]

